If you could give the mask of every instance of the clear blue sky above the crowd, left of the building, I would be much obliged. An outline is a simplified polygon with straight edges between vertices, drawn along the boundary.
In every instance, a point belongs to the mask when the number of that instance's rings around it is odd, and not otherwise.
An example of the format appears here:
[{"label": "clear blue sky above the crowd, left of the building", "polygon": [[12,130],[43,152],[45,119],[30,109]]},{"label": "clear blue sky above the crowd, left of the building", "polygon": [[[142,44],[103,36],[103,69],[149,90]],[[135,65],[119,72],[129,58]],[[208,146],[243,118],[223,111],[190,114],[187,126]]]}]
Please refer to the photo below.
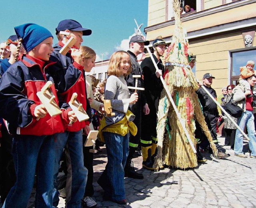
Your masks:
[{"label": "clear blue sky above the crowd, left of the building", "polygon": [[141,28],[144,31],[148,21],[148,0],[4,0],[0,14],[1,42],[15,34],[14,26],[32,22],[50,30],[55,44],[58,23],[64,19],[77,20],[84,28],[92,30],[92,35],[83,36],[82,45],[94,49],[99,60],[102,53],[103,59],[107,59],[128,44],[136,27],[134,18],[138,24],[144,24]]}]

